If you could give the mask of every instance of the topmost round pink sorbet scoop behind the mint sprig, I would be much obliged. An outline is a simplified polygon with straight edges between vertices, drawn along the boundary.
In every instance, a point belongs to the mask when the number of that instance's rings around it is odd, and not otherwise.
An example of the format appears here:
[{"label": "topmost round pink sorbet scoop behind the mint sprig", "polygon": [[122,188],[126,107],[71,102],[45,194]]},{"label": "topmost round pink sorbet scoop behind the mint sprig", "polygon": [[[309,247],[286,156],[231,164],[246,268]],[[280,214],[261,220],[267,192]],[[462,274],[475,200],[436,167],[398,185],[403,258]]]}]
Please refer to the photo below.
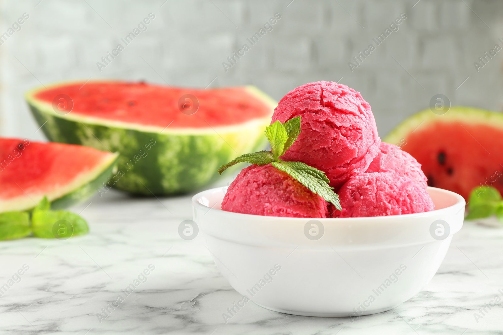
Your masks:
[{"label": "topmost round pink sorbet scoop behind the mint sprig", "polygon": [[299,115],[300,135],[281,158],[324,171],[336,191],[352,174],[365,172],[379,151],[370,104],[346,85],[318,81],[295,88],[280,100],[272,123]]}]

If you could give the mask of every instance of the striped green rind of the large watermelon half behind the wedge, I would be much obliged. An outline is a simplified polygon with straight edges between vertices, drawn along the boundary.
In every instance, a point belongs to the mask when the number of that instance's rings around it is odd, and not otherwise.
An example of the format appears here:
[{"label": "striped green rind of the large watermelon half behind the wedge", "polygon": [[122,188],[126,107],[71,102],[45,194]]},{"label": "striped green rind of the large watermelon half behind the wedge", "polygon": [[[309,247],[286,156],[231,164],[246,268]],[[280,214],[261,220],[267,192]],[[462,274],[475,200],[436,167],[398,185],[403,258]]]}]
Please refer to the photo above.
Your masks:
[{"label": "striped green rind of the large watermelon half behind the wedge", "polygon": [[264,129],[276,106],[265,93],[247,86],[250,94],[270,106],[271,115],[232,126],[162,129],[71,112],[59,115],[50,103],[34,98],[39,89],[27,92],[26,100],[50,141],[120,153],[118,172],[102,185],[100,194],[110,186],[142,195],[180,194],[216,181],[222,164],[264,149]]}]

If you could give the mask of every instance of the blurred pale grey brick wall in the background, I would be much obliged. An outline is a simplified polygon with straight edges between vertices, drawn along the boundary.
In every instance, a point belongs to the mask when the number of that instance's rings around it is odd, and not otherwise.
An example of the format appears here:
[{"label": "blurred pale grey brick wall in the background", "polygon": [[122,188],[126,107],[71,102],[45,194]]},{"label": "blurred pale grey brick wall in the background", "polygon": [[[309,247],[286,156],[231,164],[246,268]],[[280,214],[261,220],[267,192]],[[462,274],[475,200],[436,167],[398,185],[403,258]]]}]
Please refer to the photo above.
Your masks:
[{"label": "blurred pale grey brick wall in the background", "polygon": [[[43,139],[23,92],[89,77],[195,87],[216,77],[212,86],[254,84],[276,99],[305,82],[342,78],[372,105],[382,136],[438,93],[452,104],[502,109],[503,52],[478,72],[473,65],[503,46],[499,1],[39,1],[0,2],[0,34],[30,16],[0,45],[2,136]],[[96,62],[148,13],[155,19],[147,30],[100,72]],[[222,62],[275,13],[281,19],[273,30],[224,71]],[[352,57],[401,13],[407,19],[398,31],[351,71]]]}]

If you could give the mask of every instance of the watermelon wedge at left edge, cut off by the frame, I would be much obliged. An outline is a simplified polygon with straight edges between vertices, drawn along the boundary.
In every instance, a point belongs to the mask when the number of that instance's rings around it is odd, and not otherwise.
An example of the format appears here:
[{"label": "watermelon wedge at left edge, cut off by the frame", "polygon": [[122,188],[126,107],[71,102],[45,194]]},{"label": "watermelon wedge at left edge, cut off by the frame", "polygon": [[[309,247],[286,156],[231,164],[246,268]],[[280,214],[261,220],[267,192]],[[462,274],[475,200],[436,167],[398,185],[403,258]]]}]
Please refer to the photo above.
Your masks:
[{"label": "watermelon wedge at left edge, cut off by the frame", "polygon": [[26,210],[47,196],[63,208],[98,194],[118,154],[61,143],[0,138],[0,212]]}]

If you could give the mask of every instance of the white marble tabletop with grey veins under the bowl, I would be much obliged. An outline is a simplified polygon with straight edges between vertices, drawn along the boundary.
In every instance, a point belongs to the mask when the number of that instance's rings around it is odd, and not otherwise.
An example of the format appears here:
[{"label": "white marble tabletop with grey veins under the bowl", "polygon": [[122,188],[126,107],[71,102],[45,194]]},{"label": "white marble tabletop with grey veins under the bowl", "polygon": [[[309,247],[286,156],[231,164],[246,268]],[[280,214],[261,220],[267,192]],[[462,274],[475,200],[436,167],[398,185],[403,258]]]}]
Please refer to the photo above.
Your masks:
[{"label": "white marble tabletop with grey veins under the bowl", "polygon": [[[352,320],[247,303],[224,323],[222,313],[240,295],[202,235],[179,237],[180,222],[191,218],[190,198],[109,191],[73,208],[85,209],[85,237],[1,242],[0,334],[503,334],[501,305],[478,310],[503,298],[503,229],[475,222],[465,222],[425,290],[394,310]],[[11,287],[2,291],[5,283]]]}]

